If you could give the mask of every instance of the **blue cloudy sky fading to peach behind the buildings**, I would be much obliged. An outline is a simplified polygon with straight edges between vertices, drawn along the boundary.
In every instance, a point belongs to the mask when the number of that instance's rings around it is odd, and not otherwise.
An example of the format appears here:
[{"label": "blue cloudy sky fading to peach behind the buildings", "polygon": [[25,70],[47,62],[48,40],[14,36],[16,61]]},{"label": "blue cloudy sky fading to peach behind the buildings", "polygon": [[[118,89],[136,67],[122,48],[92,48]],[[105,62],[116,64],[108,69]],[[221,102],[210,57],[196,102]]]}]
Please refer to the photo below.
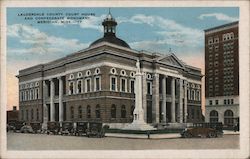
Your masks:
[{"label": "blue cloudy sky fading to peach behind the buildings", "polygon": [[[113,7],[110,11],[118,22],[116,36],[132,49],[168,54],[171,48],[179,59],[201,68],[203,74],[204,29],[239,19],[238,7]],[[7,109],[19,105],[15,76],[20,69],[87,48],[103,36],[101,23],[108,12],[109,8],[89,7],[7,8]],[[28,16],[30,13],[36,15]],[[39,18],[47,17],[62,19],[39,23]]]}]

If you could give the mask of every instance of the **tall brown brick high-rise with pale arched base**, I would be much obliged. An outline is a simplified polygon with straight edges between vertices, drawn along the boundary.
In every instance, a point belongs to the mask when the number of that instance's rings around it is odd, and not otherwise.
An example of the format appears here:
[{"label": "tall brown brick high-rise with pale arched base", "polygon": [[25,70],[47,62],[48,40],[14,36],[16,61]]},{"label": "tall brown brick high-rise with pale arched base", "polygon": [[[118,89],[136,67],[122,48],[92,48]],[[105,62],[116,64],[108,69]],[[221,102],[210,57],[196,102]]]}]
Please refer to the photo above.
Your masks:
[{"label": "tall brown brick high-rise with pale arched base", "polygon": [[238,22],[205,30],[206,121],[233,126],[239,119]]}]

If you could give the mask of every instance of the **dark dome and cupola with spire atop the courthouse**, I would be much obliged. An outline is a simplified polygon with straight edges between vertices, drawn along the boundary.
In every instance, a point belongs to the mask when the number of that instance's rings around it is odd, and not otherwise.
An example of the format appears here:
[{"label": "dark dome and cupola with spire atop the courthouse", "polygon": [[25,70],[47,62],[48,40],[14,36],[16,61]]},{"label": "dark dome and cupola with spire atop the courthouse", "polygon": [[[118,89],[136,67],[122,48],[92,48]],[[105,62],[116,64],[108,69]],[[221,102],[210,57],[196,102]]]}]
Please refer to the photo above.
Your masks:
[{"label": "dark dome and cupola with spire atop the courthouse", "polygon": [[101,42],[109,42],[115,45],[130,48],[130,46],[125,41],[116,37],[117,22],[110,13],[110,10],[107,17],[103,20],[102,25],[104,30],[103,37],[90,44],[90,47]]}]

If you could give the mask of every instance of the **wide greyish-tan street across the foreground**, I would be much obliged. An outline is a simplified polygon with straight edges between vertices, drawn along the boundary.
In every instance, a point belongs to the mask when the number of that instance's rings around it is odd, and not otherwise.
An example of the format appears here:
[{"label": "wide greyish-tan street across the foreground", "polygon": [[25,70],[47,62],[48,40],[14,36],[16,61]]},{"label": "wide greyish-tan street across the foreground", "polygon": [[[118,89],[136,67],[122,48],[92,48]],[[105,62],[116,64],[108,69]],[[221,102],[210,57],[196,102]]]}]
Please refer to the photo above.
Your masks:
[{"label": "wide greyish-tan street across the foreground", "polygon": [[128,139],[7,133],[8,150],[237,149],[239,135],[221,138]]}]

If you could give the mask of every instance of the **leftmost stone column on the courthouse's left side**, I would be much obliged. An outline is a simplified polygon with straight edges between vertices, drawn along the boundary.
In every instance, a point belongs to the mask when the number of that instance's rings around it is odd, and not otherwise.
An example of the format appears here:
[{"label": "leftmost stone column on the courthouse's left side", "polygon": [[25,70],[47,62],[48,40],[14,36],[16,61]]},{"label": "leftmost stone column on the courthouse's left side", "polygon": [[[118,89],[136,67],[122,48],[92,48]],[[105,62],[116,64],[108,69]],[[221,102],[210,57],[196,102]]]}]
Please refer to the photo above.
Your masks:
[{"label": "leftmost stone column on the courthouse's left side", "polygon": [[46,105],[46,98],[48,98],[48,86],[46,84],[46,81],[43,81],[43,124],[42,129],[47,129],[47,122],[48,122],[48,108]]}]

